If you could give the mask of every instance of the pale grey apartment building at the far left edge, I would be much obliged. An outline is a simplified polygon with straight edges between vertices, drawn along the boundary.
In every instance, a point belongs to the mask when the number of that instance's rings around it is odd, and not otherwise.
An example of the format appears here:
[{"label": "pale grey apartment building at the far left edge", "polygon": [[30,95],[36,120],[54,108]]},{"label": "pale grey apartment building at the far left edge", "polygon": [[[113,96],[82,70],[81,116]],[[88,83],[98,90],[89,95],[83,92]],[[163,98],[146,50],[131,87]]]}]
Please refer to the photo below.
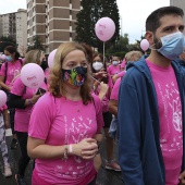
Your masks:
[{"label": "pale grey apartment building at the far left edge", "polygon": [[18,9],[17,12],[0,14],[0,36],[16,39],[17,50],[23,54],[27,47],[27,11]]}]

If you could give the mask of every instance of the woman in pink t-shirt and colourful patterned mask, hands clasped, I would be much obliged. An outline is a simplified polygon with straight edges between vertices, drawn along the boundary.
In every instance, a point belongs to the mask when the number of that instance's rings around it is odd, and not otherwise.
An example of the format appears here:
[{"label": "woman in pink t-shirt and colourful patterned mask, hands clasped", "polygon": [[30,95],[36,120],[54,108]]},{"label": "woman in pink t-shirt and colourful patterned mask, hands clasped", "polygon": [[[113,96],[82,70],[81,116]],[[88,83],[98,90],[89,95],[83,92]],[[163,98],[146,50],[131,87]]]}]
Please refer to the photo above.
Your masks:
[{"label": "woman in pink t-shirt and colourful patterned mask, hands clasped", "polygon": [[[32,184],[92,185],[102,139],[100,99],[91,95],[86,49],[62,44],[50,69],[49,92],[35,104],[27,149],[36,159]],[[97,141],[98,140],[98,141]]]}]

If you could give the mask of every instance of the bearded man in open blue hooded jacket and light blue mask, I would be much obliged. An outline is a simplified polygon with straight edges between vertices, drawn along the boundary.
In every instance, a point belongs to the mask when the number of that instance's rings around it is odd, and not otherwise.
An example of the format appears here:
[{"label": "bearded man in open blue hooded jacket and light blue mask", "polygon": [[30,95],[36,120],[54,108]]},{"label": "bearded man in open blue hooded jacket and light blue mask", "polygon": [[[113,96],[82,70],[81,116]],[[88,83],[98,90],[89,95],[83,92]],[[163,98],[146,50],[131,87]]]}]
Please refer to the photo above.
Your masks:
[{"label": "bearded man in open blue hooded jacket and light blue mask", "polygon": [[164,7],[146,20],[151,52],[131,63],[119,92],[119,160],[126,185],[185,184],[183,10]]}]

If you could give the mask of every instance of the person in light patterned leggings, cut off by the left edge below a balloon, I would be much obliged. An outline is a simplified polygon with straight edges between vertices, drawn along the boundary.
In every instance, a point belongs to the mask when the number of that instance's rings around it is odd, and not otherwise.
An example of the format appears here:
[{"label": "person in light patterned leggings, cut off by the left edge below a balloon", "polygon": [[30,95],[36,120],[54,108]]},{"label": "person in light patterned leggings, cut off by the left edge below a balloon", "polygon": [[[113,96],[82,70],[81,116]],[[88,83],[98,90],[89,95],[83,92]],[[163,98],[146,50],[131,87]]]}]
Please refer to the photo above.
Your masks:
[{"label": "person in light patterned leggings, cut off by the left edge below a balloon", "polygon": [[[5,123],[5,124],[4,124]],[[12,171],[9,161],[9,152],[5,143],[5,127],[9,126],[9,115],[8,115],[8,107],[4,104],[0,108],[0,150],[2,153],[3,164],[4,164],[4,176],[11,176]]]}]

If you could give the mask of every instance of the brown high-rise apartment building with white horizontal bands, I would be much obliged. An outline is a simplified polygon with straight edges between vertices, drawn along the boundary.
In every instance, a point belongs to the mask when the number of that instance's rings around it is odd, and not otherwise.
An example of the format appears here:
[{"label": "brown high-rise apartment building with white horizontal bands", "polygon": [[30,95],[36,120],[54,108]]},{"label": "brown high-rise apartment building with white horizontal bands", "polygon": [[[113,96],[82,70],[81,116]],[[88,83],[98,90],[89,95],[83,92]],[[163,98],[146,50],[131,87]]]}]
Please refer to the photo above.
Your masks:
[{"label": "brown high-rise apartment building with white horizontal bands", "polygon": [[27,42],[39,36],[46,53],[75,38],[81,0],[27,0]]}]

